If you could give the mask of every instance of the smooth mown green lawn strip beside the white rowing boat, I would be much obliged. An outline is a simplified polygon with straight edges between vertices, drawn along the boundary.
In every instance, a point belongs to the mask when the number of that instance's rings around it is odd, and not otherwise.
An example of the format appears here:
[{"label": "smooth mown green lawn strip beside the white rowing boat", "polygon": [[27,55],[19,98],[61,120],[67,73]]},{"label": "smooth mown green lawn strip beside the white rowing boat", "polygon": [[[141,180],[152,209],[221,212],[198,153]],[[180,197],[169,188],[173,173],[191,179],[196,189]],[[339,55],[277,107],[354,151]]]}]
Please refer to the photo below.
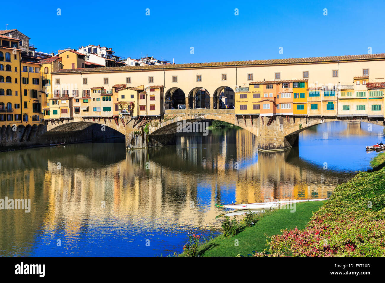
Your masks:
[{"label": "smooth mown green lawn strip beside the white rowing boat", "polygon": [[[247,256],[252,251],[263,251],[266,248],[266,236],[281,233],[282,229],[291,229],[296,226],[300,229],[305,228],[314,211],[318,210],[325,201],[309,201],[297,203],[295,213],[288,209],[269,211],[262,214],[255,226],[241,226],[241,232],[233,237],[225,238],[219,234],[216,238],[199,246],[200,256],[237,256],[238,254]],[[255,221],[254,221],[255,223]],[[235,240],[239,245],[235,246]]]}]

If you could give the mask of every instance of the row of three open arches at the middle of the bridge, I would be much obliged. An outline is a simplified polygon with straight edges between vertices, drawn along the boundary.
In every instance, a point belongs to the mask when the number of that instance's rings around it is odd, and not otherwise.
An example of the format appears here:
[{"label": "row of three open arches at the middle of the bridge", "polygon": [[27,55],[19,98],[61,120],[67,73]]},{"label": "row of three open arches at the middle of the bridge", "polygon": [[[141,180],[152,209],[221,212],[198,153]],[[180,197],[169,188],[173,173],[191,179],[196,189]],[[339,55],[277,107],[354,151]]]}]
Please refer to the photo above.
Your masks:
[{"label": "row of three open arches at the middle of the bridge", "polygon": [[178,87],[164,93],[164,109],[234,108],[234,89],[223,85],[213,95],[204,87],[194,87],[187,94]]}]

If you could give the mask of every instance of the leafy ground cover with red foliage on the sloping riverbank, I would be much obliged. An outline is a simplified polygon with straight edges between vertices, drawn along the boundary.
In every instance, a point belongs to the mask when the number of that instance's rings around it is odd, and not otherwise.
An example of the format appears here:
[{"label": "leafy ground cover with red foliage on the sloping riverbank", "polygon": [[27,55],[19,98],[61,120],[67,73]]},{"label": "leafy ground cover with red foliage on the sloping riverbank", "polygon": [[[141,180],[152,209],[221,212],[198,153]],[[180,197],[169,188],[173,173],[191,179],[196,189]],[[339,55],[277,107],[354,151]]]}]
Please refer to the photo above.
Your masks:
[{"label": "leafy ground cover with red foliage on the sloping riverbank", "polygon": [[305,229],[271,237],[259,256],[385,256],[385,168],[336,187]]}]

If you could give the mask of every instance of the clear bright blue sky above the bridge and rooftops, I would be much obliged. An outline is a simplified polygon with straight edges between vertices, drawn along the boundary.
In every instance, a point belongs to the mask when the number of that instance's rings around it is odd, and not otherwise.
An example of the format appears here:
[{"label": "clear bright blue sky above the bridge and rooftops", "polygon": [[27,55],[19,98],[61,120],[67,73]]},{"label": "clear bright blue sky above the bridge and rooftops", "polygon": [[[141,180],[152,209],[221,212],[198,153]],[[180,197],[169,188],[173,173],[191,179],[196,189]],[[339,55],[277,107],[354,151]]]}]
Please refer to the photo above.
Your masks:
[{"label": "clear bright blue sky above the bridge and rooftops", "polygon": [[[2,13],[0,29],[8,23],[8,29],[25,33],[30,44],[44,52],[100,44],[112,47],[121,57],[148,54],[176,63],[367,54],[368,47],[372,53],[385,52],[383,5],[371,1],[19,4],[24,7],[2,3],[3,11],[8,12]],[[236,8],[238,16],[234,15]],[[280,47],[283,54],[279,54]]]}]

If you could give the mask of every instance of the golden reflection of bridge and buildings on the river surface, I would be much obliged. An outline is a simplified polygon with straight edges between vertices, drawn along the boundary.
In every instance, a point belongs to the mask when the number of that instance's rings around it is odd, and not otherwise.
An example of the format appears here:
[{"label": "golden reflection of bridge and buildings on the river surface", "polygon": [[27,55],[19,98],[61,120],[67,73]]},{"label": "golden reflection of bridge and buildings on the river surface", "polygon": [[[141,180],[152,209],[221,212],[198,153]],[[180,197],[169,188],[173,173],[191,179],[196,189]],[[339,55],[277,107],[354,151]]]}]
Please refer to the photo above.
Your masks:
[{"label": "golden reflection of bridge and buildings on the river surface", "polygon": [[304,162],[298,149],[259,152],[256,160],[251,133],[221,131],[148,151],[74,144],[3,154],[1,196],[31,198],[33,208],[29,214],[0,212],[1,254],[27,253],[40,231],[65,233],[75,242],[106,225],[137,236],[150,229],[218,227],[215,217],[223,210],[215,203],[321,198],[334,189],[318,180],[338,174]]}]

